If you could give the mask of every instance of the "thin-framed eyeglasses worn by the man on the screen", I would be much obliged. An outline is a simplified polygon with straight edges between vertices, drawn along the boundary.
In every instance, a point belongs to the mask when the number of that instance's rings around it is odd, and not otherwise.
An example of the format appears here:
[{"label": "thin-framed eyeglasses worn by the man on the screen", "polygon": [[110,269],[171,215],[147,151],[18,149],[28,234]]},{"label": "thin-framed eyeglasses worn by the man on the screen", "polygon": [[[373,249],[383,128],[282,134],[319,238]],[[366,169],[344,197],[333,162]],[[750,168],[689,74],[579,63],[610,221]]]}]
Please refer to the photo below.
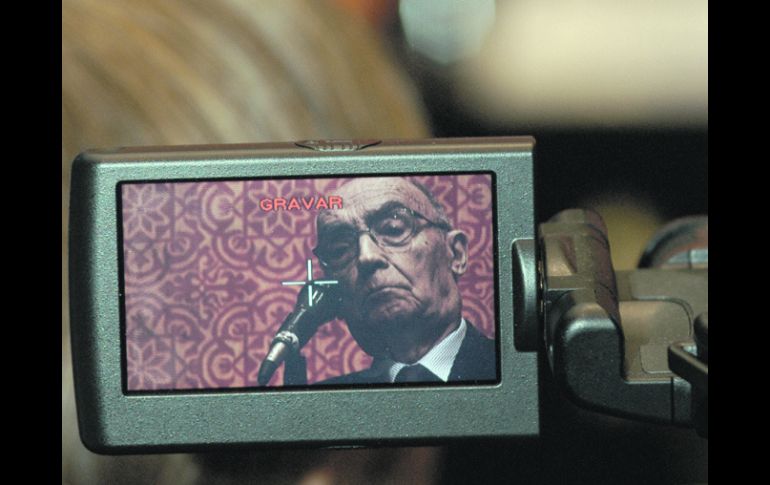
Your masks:
[{"label": "thin-framed eyeglasses worn by the man on the screen", "polygon": [[352,227],[331,228],[319,235],[318,246],[313,253],[325,268],[341,270],[358,257],[359,237],[369,234],[381,248],[397,248],[409,244],[420,231],[438,227],[445,231],[452,228],[446,222],[434,222],[417,211],[397,207],[375,217],[366,229]]}]

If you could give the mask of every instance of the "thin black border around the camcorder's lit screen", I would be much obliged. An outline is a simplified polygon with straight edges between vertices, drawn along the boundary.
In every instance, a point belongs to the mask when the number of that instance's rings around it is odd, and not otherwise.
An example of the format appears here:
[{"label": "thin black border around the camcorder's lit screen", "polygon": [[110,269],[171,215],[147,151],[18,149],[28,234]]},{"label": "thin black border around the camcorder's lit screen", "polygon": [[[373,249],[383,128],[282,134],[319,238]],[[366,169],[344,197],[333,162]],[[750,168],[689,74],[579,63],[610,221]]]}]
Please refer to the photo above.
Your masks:
[{"label": "thin black border around the camcorder's lit screen", "polygon": [[[255,387],[222,387],[205,389],[154,389],[154,390],[128,390],[128,355],[126,338],[126,302],[125,302],[125,275],[123,272],[123,197],[122,187],[124,185],[141,184],[182,184],[182,183],[209,183],[209,182],[244,182],[260,180],[317,180],[325,178],[385,178],[385,177],[420,177],[420,176],[455,176],[455,175],[489,175],[491,177],[492,192],[492,263],[494,265],[494,287],[495,287],[495,371],[497,377],[494,380],[470,380],[470,381],[452,381],[441,383],[423,383],[423,382],[404,382],[404,383],[366,383],[366,384],[342,384],[342,385],[319,385],[308,384],[305,386],[255,386]],[[403,389],[403,388],[441,388],[457,387],[468,385],[498,385],[502,381],[501,374],[501,344],[500,344],[500,258],[498,248],[498,205],[497,205],[497,172],[493,170],[480,171],[461,171],[461,172],[410,172],[403,173],[364,173],[364,174],[331,174],[331,175],[294,175],[286,177],[223,177],[206,179],[151,179],[151,180],[125,180],[118,182],[115,186],[116,196],[116,215],[117,215],[117,243],[118,243],[118,300],[120,316],[120,380],[121,392],[124,396],[161,396],[161,395],[219,395],[233,393],[260,393],[260,392],[294,392],[294,391],[319,391],[336,389]]]}]

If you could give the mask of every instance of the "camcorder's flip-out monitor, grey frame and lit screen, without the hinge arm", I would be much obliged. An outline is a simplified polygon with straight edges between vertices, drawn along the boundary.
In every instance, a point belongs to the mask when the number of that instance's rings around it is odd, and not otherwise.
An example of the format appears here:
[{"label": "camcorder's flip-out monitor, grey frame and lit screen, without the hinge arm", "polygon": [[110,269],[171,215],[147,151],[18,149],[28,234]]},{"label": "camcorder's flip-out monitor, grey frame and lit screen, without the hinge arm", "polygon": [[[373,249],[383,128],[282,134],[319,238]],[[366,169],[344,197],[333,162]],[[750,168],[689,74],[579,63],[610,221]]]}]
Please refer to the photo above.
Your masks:
[{"label": "camcorder's flip-out monitor, grey frame and lit screen, without the hinge arm", "polygon": [[[504,137],[81,154],[70,299],[83,442],[137,453],[537,436],[533,149]],[[430,244],[446,253],[435,265]],[[315,312],[324,292],[339,309]],[[415,295],[439,310],[382,330]],[[459,326],[441,317],[455,299]],[[323,315],[295,331],[300,311]],[[448,374],[371,371],[421,321],[439,329],[435,347],[461,332],[442,350]],[[489,345],[466,345],[477,333]],[[258,378],[276,342],[288,357]],[[484,373],[468,370],[478,361]]]}]

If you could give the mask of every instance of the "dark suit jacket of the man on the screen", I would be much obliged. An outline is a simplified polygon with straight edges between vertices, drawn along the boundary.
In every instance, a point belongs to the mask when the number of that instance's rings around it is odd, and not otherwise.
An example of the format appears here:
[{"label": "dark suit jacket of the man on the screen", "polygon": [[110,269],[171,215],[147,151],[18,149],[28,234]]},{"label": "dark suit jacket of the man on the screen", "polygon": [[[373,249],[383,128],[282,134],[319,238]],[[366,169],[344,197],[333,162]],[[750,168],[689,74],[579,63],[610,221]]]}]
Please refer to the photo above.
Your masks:
[{"label": "dark suit jacket of the man on the screen", "polygon": [[[465,321],[467,329],[460,350],[457,352],[449,382],[494,381],[497,379],[497,359],[495,341],[486,338],[470,322]],[[372,369],[354,372],[339,377],[332,377],[316,385],[378,384],[383,376],[374,374]]]}]

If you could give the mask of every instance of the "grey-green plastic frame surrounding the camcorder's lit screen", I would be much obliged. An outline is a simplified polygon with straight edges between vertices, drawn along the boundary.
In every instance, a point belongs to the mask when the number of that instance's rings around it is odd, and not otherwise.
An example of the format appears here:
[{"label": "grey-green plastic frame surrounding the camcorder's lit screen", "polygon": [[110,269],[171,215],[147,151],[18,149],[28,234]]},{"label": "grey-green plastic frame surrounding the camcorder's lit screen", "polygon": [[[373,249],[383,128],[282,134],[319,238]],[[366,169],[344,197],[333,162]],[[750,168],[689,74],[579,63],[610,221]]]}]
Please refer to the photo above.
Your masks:
[{"label": "grey-green plastic frame surrounding the camcorder's lit screen", "polygon": [[[83,442],[93,451],[117,454],[537,436],[537,354],[530,351],[537,335],[532,328],[537,323],[533,147],[530,137],[505,137],[118,148],[81,154],[72,170],[70,299]],[[493,175],[497,383],[124,392],[119,184],[457,172]]]}]

